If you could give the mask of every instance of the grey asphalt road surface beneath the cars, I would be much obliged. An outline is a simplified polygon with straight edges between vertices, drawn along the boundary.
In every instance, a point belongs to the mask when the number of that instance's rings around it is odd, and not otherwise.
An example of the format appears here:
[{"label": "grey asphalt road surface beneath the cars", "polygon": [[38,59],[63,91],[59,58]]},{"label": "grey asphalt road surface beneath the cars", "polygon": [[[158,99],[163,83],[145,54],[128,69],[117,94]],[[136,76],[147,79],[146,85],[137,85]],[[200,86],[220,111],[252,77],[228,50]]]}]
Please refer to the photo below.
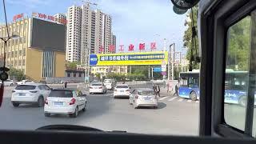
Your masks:
[{"label": "grey asphalt road surface beneath the cars", "polygon": [[159,98],[158,110],[134,110],[128,99],[114,99],[113,91],[108,91],[107,94],[87,95],[87,110],[80,112],[78,118],[60,114],[46,118],[43,108],[25,104],[17,108],[12,106],[10,95],[13,88],[6,87],[0,108],[0,129],[34,130],[46,125],[72,124],[142,134],[198,134],[199,103],[183,98],[163,95]]}]

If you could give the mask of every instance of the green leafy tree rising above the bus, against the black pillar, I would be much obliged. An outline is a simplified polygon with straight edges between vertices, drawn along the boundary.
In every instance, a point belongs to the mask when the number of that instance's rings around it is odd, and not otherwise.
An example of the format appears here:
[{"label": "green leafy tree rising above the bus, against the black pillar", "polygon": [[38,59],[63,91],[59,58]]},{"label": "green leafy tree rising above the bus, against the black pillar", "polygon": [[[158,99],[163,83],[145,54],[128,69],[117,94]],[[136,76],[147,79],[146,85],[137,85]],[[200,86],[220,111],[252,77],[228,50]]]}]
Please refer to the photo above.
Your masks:
[{"label": "green leafy tree rising above the bus, against the black pillar", "polygon": [[[197,21],[197,11],[198,11],[198,6],[194,6],[193,8],[193,18],[191,17],[191,11],[188,12],[188,14],[186,15],[187,19],[185,21],[184,26],[187,26],[184,36],[183,36],[183,46],[185,46],[187,48],[186,51],[186,59],[190,60],[191,58],[191,49],[193,52],[193,57],[194,60],[195,58],[198,56],[198,37],[195,37],[195,41],[194,41],[194,46],[192,45],[192,23],[191,21],[194,22],[194,26],[196,28],[197,31],[197,26],[198,26],[198,21]],[[189,21],[190,20],[190,21]],[[199,64],[198,62],[192,62],[192,69],[198,69],[199,68]]]}]

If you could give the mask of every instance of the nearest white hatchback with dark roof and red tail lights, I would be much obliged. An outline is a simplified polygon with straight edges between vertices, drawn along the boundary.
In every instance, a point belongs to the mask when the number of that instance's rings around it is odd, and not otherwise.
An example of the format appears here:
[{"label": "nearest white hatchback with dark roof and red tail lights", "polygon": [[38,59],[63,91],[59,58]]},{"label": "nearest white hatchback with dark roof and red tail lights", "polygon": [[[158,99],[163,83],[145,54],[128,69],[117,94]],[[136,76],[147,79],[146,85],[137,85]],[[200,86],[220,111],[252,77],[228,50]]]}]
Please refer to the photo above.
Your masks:
[{"label": "nearest white hatchback with dark roof and red tail lights", "polygon": [[81,91],[51,90],[45,101],[44,113],[46,117],[50,114],[69,114],[71,118],[76,118],[80,110],[86,111],[86,102]]}]

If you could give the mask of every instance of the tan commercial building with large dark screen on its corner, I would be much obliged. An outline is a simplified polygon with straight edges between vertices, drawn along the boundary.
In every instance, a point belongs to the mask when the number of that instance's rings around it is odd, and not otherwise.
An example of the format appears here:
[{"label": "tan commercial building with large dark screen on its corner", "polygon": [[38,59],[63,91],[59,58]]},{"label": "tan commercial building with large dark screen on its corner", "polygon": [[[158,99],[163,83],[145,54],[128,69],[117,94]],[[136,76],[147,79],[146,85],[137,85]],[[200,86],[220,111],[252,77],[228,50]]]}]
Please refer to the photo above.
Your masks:
[{"label": "tan commercial building with large dark screen on its corner", "polygon": [[[19,38],[7,43],[6,66],[22,70],[28,78],[40,81],[47,77],[65,76],[66,26],[38,18],[23,18],[8,25],[9,34]],[[0,37],[7,36],[0,26]],[[2,57],[4,42],[0,42]]]}]

